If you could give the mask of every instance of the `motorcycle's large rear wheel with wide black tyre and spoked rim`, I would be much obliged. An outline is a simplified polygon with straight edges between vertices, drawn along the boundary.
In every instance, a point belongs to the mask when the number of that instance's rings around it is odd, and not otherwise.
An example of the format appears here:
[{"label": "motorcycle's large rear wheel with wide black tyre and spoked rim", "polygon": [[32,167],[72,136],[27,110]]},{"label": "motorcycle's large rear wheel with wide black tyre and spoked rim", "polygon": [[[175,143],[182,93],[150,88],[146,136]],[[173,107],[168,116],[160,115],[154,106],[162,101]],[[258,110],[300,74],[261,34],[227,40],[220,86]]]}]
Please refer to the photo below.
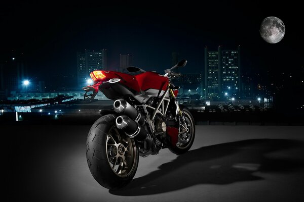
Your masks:
[{"label": "motorcycle's large rear wheel with wide black tyre and spoked rim", "polygon": [[120,132],[115,115],[99,118],[87,137],[87,162],[95,180],[108,189],[127,185],[138,166],[138,150],[133,139]]}]

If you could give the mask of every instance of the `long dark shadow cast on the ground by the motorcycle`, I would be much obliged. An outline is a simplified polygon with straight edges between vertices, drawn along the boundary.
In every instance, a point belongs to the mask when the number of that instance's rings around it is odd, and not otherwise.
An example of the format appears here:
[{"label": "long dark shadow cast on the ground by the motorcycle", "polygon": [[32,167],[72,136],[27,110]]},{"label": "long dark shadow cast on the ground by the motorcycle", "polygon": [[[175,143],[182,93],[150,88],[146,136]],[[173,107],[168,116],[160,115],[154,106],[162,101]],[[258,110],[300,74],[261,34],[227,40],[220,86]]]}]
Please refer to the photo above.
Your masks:
[{"label": "long dark shadow cast on the ground by the motorcycle", "polygon": [[[292,149],[291,149],[292,148]],[[133,179],[111,194],[136,196],[165,193],[197,184],[262,180],[255,172],[290,172],[304,167],[304,144],[289,139],[250,139],[190,150],[159,170]]]}]

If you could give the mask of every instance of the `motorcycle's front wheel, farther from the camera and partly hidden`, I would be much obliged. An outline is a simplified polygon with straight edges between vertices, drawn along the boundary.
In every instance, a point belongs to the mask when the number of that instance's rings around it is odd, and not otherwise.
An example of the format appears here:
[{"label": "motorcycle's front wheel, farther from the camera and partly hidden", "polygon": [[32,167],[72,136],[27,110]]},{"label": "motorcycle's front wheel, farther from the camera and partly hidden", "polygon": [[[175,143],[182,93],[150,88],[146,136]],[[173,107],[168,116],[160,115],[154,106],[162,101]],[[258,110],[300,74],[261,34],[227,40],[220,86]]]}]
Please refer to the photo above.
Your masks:
[{"label": "motorcycle's front wheel, farther from the camera and partly hidden", "polygon": [[184,116],[188,130],[184,133],[178,134],[177,143],[174,146],[169,147],[169,150],[177,155],[184,154],[186,151],[188,151],[191,148],[195,138],[195,122],[192,114],[185,108],[181,110],[181,113]]}]

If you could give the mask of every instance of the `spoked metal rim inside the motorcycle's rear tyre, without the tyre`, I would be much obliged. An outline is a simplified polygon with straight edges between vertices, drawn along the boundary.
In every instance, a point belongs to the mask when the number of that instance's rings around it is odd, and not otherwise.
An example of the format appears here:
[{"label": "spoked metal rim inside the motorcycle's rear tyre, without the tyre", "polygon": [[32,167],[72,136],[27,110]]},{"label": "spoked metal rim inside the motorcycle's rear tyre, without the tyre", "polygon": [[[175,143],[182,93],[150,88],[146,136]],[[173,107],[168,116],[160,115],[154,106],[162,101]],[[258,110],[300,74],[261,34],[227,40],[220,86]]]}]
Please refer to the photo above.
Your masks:
[{"label": "spoked metal rim inside the motorcycle's rear tyre, without the tyre", "polygon": [[111,127],[106,137],[107,160],[119,177],[128,177],[135,169],[137,149],[134,140]]}]

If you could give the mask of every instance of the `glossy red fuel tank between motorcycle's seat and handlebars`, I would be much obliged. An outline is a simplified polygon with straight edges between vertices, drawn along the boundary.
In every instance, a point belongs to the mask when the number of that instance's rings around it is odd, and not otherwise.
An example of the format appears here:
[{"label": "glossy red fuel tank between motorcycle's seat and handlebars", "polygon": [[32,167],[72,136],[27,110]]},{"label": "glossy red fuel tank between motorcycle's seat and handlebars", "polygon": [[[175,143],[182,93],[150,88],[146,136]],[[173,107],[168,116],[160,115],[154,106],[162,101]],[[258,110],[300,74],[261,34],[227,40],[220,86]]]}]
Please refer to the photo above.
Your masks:
[{"label": "glossy red fuel tank between motorcycle's seat and handlebars", "polygon": [[145,72],[135,75],[141,90],[162,89],[166,90],[169,80],[165,76],[160,76],[155,72]]}]

